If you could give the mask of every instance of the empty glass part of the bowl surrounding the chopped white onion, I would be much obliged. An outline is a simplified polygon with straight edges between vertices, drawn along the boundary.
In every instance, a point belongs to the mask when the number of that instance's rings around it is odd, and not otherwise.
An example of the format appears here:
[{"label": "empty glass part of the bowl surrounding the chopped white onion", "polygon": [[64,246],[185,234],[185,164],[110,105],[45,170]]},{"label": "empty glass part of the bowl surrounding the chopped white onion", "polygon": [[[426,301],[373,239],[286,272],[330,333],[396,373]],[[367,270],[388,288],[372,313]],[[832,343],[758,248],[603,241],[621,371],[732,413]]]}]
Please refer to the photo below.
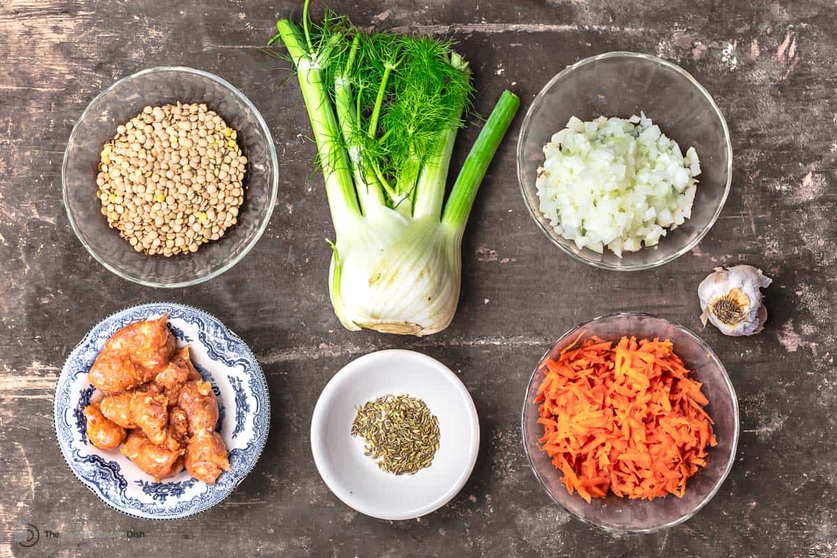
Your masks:
[{"label": "empty glass part of the bowl surrounding the chopped white onion", "polygon": [[[539,207],[535,180],[543,146],[571,116],[628,118],[644,111],[683,152],[694,146],[701,175],[691,218],[655,247],[623,253],[579,250],[559,235]],[[573,258],[603,269],[636,271],[665,264],[688,252],[709,231],[727,201],[732,181],[732,145],[727,121],[709,93],[686,70],[647,54],[613,52],[583,59],[550,79],[532,101],[517,140],[517,178],[538,227]]]}]

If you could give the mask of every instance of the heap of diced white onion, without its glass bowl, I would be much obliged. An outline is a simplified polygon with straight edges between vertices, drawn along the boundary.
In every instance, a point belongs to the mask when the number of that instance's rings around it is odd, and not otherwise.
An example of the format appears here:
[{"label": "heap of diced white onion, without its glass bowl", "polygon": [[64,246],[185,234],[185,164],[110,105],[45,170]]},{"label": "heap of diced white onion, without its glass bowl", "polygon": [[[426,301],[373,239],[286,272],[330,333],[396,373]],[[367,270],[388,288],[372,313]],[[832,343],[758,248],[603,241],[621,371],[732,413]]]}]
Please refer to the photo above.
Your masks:
[{"label": "heap of diced white onion, without its glass bowl", "polygon": [[683,156],[644,113],[591,122],[573,116],[543,152],[541,212],[579,249],[602,253],[607,246],[621,257],[643,243],[655,246],[691,217],[697,152],[690,147]]}]

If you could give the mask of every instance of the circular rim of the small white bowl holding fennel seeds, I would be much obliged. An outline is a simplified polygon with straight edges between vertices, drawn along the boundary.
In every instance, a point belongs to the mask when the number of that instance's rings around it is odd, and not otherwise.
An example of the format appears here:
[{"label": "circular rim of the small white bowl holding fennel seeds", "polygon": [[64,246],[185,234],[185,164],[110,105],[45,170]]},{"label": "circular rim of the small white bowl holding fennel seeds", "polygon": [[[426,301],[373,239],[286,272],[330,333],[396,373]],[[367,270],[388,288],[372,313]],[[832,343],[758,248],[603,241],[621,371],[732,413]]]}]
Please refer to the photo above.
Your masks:
[{"label": "circular rim of the small white bowl holding fennel seeds", "polygon": [[[383,514],[376,509],[371,509],[365,505],[358,504],[357,501],[352,499],[350,496],[351,493],[346,494],[345,492],[336,489],[335,484],[331,482],[329,475],[327,474],[329,471],[324,466],[324,463],[327,462],[326,451],[322,448],[323,444],[320,443],[316,435],[316,433],[321,431],[321,423],[325,421],[325,417],[329,412],[328,409],[323,407],[323,397],[326,395],[326,392],[338,389],[341,381],[345,381],[352,374],[355,374],[358,371],[363,371],[363,369],[372,364],[373,361],[385,356],[413,358],[418,361],[424,361],[423,366],[426,365],[439,371],[439,373],[450,382],[451,388],[454,389],[460,396],[461,401],[466,407],[466,412],[470,417],[470,427],[474,433],[473,444],[472,447],[469,448],[471,454],[468,463],[465,468],[462,469],[460,474],[455,477],[454,482],[450,485],[449,489],[445,490],[444,494],[440,496],[439,499],[436,499],[429,504],[409,509],[407,513],[390,514],[390,517],[385,516],[386,514]],[[471,397],[468,388],[465,387],[465,384],[462,382],[460,377],[454,374],[454,371],[450,370],[450,368],[443,362],[437,361],[434,357],[425,355],[419,351],[409,351],[408,349],[384,349],[383,351],[372,351],[371,353],[367,353],[366,355],[359,356],[356,359],[349,361],[346,366],[343,366],[334,376],[331,376],[331,379],[326,383],[326,387],[323,388],[320,396],[317,397],[317,402],[311,415],[310,437],[311,453],[314,458],[317,473],[320,474],[321,479],[326,484],[328,489],[331,490],[331,493],[334,494],[337,499],[340,499],[343,504],[346,504],[355,511],[368,515],[369,517],[373,517],[377,520],[413,520],[442,508],[445,504],[448,504],[451,499],[454,499],[454,496],[459,494],[465,487],[465,484],[474,472],[476,460],[480,453],[480,417],[476,411],[474,399]]]}]

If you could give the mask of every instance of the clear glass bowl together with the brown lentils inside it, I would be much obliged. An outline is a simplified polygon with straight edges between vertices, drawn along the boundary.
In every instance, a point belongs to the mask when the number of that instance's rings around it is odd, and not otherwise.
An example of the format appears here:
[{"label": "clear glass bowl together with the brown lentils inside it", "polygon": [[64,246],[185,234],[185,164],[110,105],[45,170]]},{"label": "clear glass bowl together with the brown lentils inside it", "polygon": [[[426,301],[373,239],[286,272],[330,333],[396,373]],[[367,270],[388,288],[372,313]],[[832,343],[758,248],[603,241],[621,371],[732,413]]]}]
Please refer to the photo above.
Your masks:
[{"label": "clear glass bowl together with the brown lentils inside it", "polygon": [[279,164],[253,103],[198,69],[144,69],[102,91],[69,136],[69,223],[106,269],[184,287],[232,268],[270,221]]}]

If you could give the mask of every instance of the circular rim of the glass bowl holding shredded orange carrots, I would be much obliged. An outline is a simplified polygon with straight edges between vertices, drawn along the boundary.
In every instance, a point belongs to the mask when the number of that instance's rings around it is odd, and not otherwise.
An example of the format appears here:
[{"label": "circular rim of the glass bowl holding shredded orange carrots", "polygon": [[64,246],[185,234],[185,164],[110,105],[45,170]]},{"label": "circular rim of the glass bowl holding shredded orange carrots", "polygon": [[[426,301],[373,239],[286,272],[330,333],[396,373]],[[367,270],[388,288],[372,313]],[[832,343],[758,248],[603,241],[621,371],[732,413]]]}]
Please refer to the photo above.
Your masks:
[{"label": "circular rim of the glass bowl holding shredded orange carrots", "polygon": [[[613,527],[613,526],[610,526],[610,525],[602,525],[600,523],[596,523],[593,520],[589,520],[587,518],[584,518],[581,515],[576,514],[572,509],[568,509],[564,504],[562,504],[559,500],[557,500],[554,496],[552,496],[552,492],[550,492],[549,489],[547,488],[547,483],[543,479],[542,475],[538,473],[537,468],[535,467],[535,463],[532,461],[531,453],[529,452],[529,448],[526,446],[526,410],[530,409],[531,405],[534,405],[534,403],[530,402],[526,396],[529,393],[529,387],[531,387],[532,382],[535,381],[535,376],[537,376],[537,372],[538,372],[538,369],[540,368],[541,363],[544,361],[544,359],[547,358],[547,356],[549,356],[550,353],[552,353],[552,351],[555,349],[555,347],[558,346],[558,344],[560,344],[563,340],[566,340],[567,337],[577,333],[578,330],[582,330],[584,327],[586,327],[590,324],[593,324],[594,322],[600,321],[600,320],[606,320],[608,318],[615,318],[615,317],[637,317],[637,316],[644,317],[644,318],[652,318],[654,320],[660,320],[661,322],[663,322],[665,324],[668,324],[668,325],[671,325],[671,326],[675,327],[676,329],[680,330],[682,333],[685,333],[686,335],[690,336],[692,339],[696,340],[698,345],[701,346],[701,349],[706,351],[711,356],[711,358],[713,358],[718,363],[718,365],[720,366],[720,369],[721,369],[721,378],[724,380],[724,383],[727,385],[727,390],[729,390],[730,397],[732,398],[732,415],[733,415],[733,418],[735,419],[735,428],[734,428],[733,433],[732,433],[732,448],[730,450],[730,456],[727,459],[727,465],[724,468],[723,473],[718,478],[718,480],[716,481],[716,483],[712,487],[712,489],[709,491],[709,493],[706,494],[706,496],[695,506],[694,509],[692,509],[687,514],[680,515],[680,517],[678,517],[675,520],[671,520],[668,523],[665,523],[665,524],[662,524],[662,525],[656,525],[654,527],[649,527],[649,528],[645,528],[645,529],[631,530],[631,529],[619,529],[617,527]],[[696,333],[694,333],[692,330],[688,329],[686,326],[680,325],[675,321],[666,320],[665,318],[660,318],[659,316],[655,316],[653,314],[647,314],[645,312],[614,312],[612,314],[600,315],[596,318],[593,318],[592,320],[588,320],[586,322],[583,322],[582,324],[574,325],[572,328],[567,330],[563,335],[558,337],[558,340],[555,341],[555,343],[553,343],[549,347],[549,349],[547,349],[547,351],[543,354],[543,356],[540,358],[540,360],[537,361],[537,365],[535,366],[535,370],[532,371],[531,376],[529,378],[529,381],[526,382],[526,392],[524,393],[524,396],[523,396],[523,408],[521,410],[521,443],[523,445],[523,453],[526,453],[526,459],[529,462],[529,468],[531,468],[532,474],[535,475],[535,478],[541,484],[542,489],[544,489],[544,491],[547,493],[547,495],[549,495],[549,498],[552,499],[552,501],[555,504],[557,504],[559,507],[561,507],[568,514],[573,515],[573,517],[575,517],[578,520],[581,520],[583,523],[586,523],[588,525],[593,525],[595,527],[598,527],[598,529],[602,529],[602,530],[608,531],[610,533],[645,535],[645,534],[649,534],[649,533],[655,533],[655,532],[660,531],[660,530],[669,529],[670,527],[674,527],[675,525],[680,525],[684,521],[691,520],[691,518],[694,517],[697,514],[697,512],[699,512],[701,509],[703,509],[703,507],[706,504],[708,504],[709,501],[712,498],[715,497],[715,495],[721,489],[721,485],[723,485],[724,481],[727,480],[727,476],[729,476],[730,471],[732,471],[732,466],[735,464],[735,457],[736,457],[736,452],[737,452],[737,448],[738,448],[738,438],[739,438],[740,433],[741,433],[741,417],[739,416],[739,412],[738,412],[738,397],[737,397],[736,392],[735,392],[735,387],[732,386],[732,381],[730,380],[729,374],[727,374],[726,366],[724,366],[723,362],[721,362],[721,359],[719,359],[718,356],[715,354],[715,351],[712,351],[711,347],[708,346],[704,340],[702,340],[698,335],[696,335]]]}]

